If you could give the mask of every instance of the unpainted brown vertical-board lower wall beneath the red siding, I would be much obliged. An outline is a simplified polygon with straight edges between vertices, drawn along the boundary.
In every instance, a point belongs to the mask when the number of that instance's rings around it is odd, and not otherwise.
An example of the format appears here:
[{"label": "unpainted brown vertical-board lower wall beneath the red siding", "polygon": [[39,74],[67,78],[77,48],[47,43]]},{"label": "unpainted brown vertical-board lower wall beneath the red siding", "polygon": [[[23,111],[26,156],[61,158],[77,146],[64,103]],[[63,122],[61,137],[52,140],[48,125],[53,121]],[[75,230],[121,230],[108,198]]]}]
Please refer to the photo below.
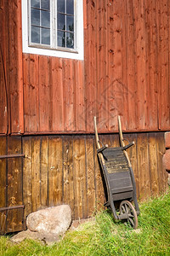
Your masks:
[{"label": "unpainted brown vertical-board lower wall beneath the red siding", "polygon": [[[166,191],[162,166],[164,133],[124,134],[135,145],[127,150],[144,200]],[[119,146],[116,134],[100,135],[110,147]],[[0,207],[25,205],[26,216],[44,207],[71,206],[72,218],[88,218],[105,202],[93,135],[0,137],[0,155],[25,154],[24,159],[0,160]],[[0,212],[1,233],[23,229],[22,209]],[[25,222],[24,222],[25,223]]]}]

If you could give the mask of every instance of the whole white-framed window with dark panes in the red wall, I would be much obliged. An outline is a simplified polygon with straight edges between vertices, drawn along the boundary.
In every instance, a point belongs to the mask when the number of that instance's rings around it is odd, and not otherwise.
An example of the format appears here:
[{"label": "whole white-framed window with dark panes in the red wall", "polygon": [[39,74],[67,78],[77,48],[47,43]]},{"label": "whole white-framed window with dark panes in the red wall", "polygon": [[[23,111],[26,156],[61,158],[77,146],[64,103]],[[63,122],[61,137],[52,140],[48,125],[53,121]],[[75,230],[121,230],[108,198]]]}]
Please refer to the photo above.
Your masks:
[{"label": "whole white-framed window with dark panes in the red wall", "polygon": [[22,0],[22,32],[23,52],[82,60],[82,0]]}]

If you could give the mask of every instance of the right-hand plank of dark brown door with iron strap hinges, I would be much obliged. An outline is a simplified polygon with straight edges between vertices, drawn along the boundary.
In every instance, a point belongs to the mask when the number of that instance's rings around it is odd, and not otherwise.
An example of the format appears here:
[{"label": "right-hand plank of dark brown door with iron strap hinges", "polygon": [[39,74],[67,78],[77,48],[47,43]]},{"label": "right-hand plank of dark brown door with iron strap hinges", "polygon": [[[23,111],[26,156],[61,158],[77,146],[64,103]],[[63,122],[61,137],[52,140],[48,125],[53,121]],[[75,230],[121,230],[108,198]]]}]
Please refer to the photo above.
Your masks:
[{"label": "right-hand plank of dark brown door with iron strap hinges", "polygon": [[[8,137],[8,154],[21,154],[21,137]],[[22,159],[8,159],[8,205],[20,206],[22,198]],[[7,232],[22,230],[22,210],[8,210]]]}]

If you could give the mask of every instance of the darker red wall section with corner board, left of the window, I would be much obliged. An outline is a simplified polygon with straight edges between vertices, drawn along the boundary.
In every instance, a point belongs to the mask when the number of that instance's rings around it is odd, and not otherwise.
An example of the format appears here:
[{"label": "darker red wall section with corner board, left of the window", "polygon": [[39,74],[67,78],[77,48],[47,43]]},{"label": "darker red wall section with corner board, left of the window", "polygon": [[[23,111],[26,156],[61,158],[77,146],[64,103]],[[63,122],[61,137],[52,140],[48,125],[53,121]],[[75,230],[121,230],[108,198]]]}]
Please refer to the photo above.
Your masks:
[{"label": "darker red wall section with corner board, left of the window", "polygon": [[0,20],[0,121],[5,124],[0,133],[20,134],[24,132],[21,0],[0,1]]}]

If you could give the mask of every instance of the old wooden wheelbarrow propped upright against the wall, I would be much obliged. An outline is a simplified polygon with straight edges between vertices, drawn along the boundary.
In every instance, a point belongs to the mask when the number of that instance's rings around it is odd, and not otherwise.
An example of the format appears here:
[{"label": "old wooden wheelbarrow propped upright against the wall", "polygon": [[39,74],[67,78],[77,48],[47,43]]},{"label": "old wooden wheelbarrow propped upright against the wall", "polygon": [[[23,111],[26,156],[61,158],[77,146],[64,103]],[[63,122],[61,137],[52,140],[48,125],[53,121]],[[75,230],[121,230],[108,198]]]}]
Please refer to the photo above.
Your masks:
[{"label": "old wooden wheelbarrow propped upright against the wall", "polygon": [[[109,148],[99,141],[96,117],[94,117],[94,130],[97,146],[97,154],[103,176],[107,201],[105,207],[110,207],[116,220],[123,220],[130,224],[133,229],[138,227],[139,205],[136,197],[136,184],[133,175],[133,168],[127,155],[127,148],[134,143],[125,145],[122,137],[122,125],[118,116],[118,128],[120,147]],[[132,204],[134,203],[134,207]],[[119,205],[119,211],[116,205]]]}]

